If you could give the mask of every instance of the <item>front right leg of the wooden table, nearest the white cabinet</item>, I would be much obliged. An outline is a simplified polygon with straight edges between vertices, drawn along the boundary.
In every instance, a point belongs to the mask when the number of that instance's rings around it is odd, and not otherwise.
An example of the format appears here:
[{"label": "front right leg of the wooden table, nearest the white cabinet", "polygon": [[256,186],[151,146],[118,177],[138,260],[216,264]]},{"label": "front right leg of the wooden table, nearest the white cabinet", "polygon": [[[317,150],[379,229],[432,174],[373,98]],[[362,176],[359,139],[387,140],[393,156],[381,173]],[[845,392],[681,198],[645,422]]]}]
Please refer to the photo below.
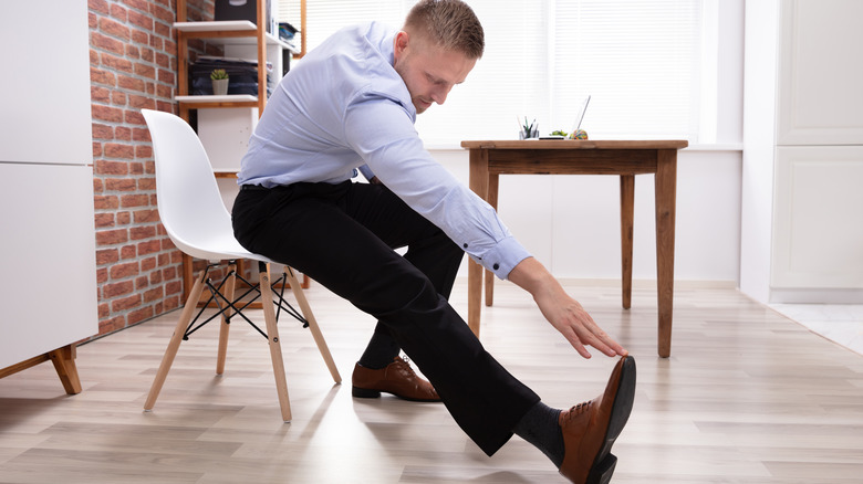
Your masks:
[{"label": "front right leg of the wooden table, nearest the white cabinet", "polygon": [[659,307],[658,351],[672,354],[672,311],[674,308],[674,224],[677,192],[677,151],[656,154],[656,278]]}]

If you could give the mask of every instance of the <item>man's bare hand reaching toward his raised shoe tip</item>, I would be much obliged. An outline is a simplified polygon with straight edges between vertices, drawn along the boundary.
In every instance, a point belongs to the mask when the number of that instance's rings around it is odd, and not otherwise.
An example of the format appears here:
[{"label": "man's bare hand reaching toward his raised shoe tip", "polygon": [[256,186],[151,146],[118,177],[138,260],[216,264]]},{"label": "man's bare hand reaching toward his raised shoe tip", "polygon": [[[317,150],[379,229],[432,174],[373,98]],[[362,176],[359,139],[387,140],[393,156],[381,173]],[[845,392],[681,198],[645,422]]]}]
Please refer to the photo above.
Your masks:
[{"label": "man's bare hand reaching toward his raised shoe tip", "polygon": [[563,291],[560,282],[536,259],[521,261],[512,269],[508,278],[533,296],[545,319],[582,357],[591,357],[586,346],[592,346],[607,356],[628,355],[628,351],[593,320],[578,301]]}]

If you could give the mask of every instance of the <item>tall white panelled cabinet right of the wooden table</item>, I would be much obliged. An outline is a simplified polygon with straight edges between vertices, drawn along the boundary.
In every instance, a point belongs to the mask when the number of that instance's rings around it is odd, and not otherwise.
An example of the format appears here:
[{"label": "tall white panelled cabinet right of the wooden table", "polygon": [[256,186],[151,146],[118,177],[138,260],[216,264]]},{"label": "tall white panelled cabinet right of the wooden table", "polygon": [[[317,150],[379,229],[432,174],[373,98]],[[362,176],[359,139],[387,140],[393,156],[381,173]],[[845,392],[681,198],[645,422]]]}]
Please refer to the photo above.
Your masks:
[{"label": "tall white panelled cabinet right of the wooden table", "polygon": [[863,2],[747,2],[740,288],[863,302]]}]

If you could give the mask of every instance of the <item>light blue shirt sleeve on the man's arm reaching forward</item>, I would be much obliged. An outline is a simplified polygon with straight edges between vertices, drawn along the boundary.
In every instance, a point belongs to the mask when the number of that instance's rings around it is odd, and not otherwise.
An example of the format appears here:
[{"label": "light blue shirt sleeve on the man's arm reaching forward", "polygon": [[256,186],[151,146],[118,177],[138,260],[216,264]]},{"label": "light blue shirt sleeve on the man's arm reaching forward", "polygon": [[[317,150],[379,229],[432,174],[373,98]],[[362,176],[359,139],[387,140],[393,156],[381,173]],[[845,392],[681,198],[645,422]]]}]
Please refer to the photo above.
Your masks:
[{"label": "light blue shirt sleeve on the man's arm reaching forward", "polygon": [[398,99],[360,98],[344,119],[347,144],[375,176],[474,261],[505,280],[530,256],[495,209],[432,158]]}]

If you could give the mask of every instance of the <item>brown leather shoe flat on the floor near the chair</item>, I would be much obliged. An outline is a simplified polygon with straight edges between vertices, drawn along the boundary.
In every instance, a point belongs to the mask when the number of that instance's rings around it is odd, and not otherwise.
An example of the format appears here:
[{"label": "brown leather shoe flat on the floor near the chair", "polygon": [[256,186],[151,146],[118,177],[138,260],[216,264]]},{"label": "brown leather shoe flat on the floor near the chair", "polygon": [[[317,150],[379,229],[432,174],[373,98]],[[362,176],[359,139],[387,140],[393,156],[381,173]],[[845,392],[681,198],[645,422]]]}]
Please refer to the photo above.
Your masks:
[{"label": "brown leather shoe flat on the floor near the chair", "polygon": [[351,394],[358,398],[378,398],[384,391],[410,401],[440,401],[435,387],[419,378],[401,357],[379,370],[356,364],[352,380]]}]

